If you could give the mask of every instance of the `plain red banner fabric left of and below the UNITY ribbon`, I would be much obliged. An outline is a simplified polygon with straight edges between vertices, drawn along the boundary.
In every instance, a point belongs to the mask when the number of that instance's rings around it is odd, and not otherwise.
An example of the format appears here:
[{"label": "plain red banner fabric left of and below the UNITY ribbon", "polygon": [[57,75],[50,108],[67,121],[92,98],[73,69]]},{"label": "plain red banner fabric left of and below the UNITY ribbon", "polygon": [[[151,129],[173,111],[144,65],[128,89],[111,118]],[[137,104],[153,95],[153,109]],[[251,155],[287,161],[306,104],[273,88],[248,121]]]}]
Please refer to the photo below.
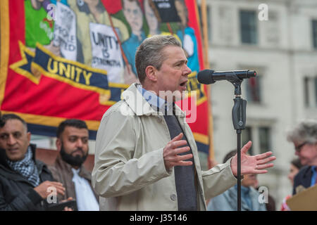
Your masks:
[{"label": "plain red banner fabric left of and below the UNITY ribbon", "polygon": [[[24,1],[8,2],[10,13],[8,66],[10,66],[22,58],[18,41],[25,44],[25,13]],[[76,98],[73,98],[74,96]],[[85,100],[85,103],[77,99]],[[97,121],[101,120],[109,107],[99,104],[99,94],[95,92],[78,89],[44,76],[41,77],[39,84],[35,84],[10,68],[6,79],[4,101],[1,104],[1,110],[17,113]]]}]

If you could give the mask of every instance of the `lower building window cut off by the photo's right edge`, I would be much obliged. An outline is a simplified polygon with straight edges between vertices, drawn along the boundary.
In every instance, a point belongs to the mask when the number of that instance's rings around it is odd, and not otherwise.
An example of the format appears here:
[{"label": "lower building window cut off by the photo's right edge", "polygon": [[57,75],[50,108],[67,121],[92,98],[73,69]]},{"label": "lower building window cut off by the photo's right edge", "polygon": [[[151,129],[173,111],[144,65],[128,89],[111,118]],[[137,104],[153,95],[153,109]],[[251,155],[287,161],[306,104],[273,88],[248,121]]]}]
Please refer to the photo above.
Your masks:
[{"label": "lower building window cut off by the photo's right edge", "polygon": [[317,107],[317,77],[304,77],[304,98],[306,107]]}]

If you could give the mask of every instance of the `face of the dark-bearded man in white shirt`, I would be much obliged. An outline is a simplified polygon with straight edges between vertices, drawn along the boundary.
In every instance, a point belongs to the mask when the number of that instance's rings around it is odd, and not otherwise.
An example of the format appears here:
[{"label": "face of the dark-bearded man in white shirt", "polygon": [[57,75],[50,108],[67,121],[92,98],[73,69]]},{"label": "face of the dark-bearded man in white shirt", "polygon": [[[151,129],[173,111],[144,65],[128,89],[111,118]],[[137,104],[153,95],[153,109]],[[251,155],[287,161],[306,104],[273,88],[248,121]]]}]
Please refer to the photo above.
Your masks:
[{"label": "face of the dark-bearded man in white shirt", "polygon": [[62,148],[68,155],[83,158],[87,155],[88,147],[88,130],[78,129],[76,127],[65,127],[61,138],[56,140],[57,149]]}]

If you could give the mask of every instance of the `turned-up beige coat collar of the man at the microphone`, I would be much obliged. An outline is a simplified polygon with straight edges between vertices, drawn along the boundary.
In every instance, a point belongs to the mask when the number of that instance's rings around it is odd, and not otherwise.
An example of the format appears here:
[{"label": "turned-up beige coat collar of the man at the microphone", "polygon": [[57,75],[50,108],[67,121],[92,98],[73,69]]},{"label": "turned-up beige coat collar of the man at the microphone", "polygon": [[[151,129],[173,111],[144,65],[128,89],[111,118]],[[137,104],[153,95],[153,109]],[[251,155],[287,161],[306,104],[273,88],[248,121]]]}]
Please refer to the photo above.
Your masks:
[{"label": "turned-up beige coat collar of the man at the microphone", "polygon": [[[163,113],[154,110],[147,100],[142,96],[142,94],[137,89],[137,83],[131,84],[128,89],[123,91],[122,98],[125,101],[133,113],[137,116],[142,115],[163,115]],[[175,104],[175,115],[179,117],[185,117],[185,112]]]}]

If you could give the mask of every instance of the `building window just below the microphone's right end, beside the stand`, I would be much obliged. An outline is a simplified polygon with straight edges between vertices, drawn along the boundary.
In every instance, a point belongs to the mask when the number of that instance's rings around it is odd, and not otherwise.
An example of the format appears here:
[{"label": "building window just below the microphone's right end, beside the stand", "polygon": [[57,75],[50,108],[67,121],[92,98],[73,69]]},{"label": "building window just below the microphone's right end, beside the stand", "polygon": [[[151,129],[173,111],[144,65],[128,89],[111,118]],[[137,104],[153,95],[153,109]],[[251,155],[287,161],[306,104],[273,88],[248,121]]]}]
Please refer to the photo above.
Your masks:
[{"label": "building window just below the microphone's right end, beside the stand", "polygon": [[245,79],[244,82],[247,83],[247,101],[252,103],[261,103],[261,79],[262,77],[260,75],[256,75],[256,77],[251,77],[250,79]]}]

